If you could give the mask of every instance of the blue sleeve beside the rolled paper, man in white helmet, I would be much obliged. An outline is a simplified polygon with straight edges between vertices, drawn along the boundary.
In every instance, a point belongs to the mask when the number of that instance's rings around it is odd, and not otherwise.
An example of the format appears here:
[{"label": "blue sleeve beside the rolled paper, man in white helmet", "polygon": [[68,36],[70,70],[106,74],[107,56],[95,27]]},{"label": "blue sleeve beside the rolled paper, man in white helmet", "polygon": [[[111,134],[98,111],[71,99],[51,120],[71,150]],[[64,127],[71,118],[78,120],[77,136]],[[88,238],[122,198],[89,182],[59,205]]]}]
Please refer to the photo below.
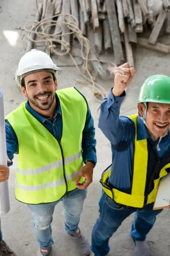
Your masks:
[{"label": "blue sleeve beside the rolled paper, man in white helmet", "polygon": [[11,163],[8,163],[8,166],[11,166],[12,160],[14,158],[14,154],[18,153],[18,142],[17,138],[12,130],[11,126],[5,121],[5,128],[6,128],[6,149],[7,149],[7,156],[11,160]]}]

